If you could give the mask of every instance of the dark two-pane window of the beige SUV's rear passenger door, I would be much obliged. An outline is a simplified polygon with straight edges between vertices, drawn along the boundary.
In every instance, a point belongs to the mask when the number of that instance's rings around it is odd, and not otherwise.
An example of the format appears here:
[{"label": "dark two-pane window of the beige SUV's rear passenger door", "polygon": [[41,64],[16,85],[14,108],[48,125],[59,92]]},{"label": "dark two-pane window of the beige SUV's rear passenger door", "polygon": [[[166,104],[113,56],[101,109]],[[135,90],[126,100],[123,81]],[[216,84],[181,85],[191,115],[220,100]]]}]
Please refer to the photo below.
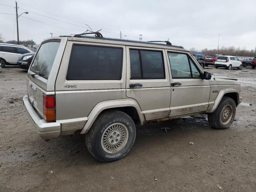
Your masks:
[{"label": "dark two-pane window of the beige SUV's rear passenger door", "polygon": [[130,50],[131,79],[164,79],[162,51]]}]

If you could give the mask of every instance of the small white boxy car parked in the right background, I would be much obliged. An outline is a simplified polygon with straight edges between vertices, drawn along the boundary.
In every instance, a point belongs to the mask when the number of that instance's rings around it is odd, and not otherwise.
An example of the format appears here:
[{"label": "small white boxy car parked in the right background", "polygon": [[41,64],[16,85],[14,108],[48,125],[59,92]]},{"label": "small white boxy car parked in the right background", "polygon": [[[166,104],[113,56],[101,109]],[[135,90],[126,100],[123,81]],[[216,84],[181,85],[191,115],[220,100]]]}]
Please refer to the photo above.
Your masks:
[{"label": "small white boxy car parked in the right background", "polygon": [[232,67],[242,69],[243,65],[240,60],[235,56],[218,56],[216,62],[214,63],[215,68],[225,67],[226,69],[231,69]]}]

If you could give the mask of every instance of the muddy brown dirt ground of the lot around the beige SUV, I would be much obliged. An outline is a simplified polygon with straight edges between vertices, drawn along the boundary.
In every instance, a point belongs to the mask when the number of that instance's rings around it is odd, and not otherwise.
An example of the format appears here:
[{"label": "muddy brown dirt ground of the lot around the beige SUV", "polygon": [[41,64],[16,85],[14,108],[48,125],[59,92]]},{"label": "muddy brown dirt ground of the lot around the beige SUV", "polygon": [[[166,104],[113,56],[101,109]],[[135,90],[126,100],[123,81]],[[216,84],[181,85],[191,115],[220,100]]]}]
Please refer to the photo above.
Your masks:
[{"label": "muddy brown dirt ground of the lot around the beige SUV", "polygon": [[127,156],[101,163],[84,135],[43,141],[22,104],[26,71],[0,69],[0,191],[255,192],[256,70],[205,70],[241,82],[243,103],[229,129],[210,128],[206,115],[148,124]]}]

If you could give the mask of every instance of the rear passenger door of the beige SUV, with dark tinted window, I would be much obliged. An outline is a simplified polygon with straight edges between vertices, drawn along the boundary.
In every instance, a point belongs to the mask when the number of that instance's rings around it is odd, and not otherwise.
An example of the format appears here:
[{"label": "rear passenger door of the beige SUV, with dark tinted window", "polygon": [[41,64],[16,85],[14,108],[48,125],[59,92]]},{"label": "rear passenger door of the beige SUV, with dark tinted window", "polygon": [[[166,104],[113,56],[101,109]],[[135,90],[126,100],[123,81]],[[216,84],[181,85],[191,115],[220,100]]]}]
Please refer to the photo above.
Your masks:
[{"label": "rear passenger door of the beige SUV, with dark tinted window", "polygon": [[135,99],[145,120],[167,118],[170,78],[163,49],[126,47],[126,96]]}]

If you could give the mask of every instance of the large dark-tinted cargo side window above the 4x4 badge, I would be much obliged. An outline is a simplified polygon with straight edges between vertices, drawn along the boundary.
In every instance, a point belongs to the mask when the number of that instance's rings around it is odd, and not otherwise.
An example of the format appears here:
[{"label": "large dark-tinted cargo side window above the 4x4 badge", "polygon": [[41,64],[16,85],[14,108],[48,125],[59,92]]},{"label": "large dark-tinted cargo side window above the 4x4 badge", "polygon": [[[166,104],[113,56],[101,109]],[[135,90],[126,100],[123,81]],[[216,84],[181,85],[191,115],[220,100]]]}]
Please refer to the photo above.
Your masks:
[{"label": "large dark-tinted cargo side window above the 4x4 badge", "polygon": [[120,80],[122,48],[74,45],[67,80]]}]

